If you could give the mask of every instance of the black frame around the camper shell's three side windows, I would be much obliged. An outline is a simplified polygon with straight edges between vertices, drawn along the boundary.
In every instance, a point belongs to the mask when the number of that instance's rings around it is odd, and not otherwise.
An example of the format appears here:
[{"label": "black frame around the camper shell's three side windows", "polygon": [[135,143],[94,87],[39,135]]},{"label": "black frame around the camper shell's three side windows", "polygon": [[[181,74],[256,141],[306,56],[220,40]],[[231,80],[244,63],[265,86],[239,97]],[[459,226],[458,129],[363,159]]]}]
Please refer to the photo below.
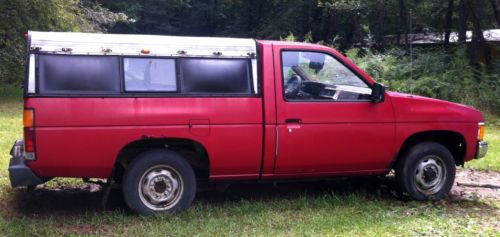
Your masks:
[{"label": "black frame around the camper shell's three side windows", "polygon": [[[31,52],[35,55],[35,93],[25,93],[25,98],[262,98],[262,90],[256,88],[258,92],[255,92],[253,81],[250,83],[250,93],[181,93],[180,89],[176,92],[126,92],[124,88],[124,71],[123,71],[123,58],[127,57],[137,57],[137,58],[164,58],[164,59],[175,59],[176,61],[176,74],[179,73],[179,63],[177,59],[179,58],[208,58],[208,59],[247,59],[249,63],[249,74],[251,80],[257,80],[260,83],[260,78],[258,77],[260,68],[257,68],[257,75],[253,75],[252,62],[254,58],[249,57],[202,57],[202,56],[151,56],[151,55],[94,55],[94,54],[59,54],[59,53],[48,53],[48,52]],[[120,76],[120,93],[118,94],[84,94],[84,93],[59,93],[59,94],[40,94],[39,91],[39,73],[38,73],[38,55],[66,55],[66,56],[102,56],[102,57],[118,57],[119,58],[119,76]],[[259,60],[257,59],[257,65],[259,65]],[[180,77],[177,76],[177,81]],[[256,76],[257,78],[254,78]],[[26,85],[27,79],[25,79],[24,84]],[[179,86],[180,84],[178,84]]]}]

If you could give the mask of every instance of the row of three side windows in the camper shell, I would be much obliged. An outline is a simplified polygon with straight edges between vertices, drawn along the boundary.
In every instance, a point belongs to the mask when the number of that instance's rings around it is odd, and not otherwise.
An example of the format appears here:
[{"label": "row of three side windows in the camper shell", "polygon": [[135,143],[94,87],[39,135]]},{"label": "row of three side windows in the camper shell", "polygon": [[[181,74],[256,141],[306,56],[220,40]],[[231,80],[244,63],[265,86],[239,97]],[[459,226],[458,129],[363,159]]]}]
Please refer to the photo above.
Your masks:
[{"label": "row of three side windows in the camper shell", "polygon": [[37,54],[35,59],[36,91],[41,96],[257,94],[249,58]]}]

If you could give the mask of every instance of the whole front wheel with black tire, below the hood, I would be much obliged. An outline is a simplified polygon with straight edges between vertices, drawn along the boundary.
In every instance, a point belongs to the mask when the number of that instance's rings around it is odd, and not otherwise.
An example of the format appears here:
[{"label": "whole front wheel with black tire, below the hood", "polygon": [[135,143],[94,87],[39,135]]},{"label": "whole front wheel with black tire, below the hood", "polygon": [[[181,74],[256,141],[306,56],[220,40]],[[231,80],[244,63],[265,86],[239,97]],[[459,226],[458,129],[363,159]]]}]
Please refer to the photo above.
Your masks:
[{"label": "whole front wheel with black tire, below the hood", "polygon": [[451,152],[435,142],[413,146],[396,167],[396,181],[402,192],[418,201],[440,200],[455,182],[455,160]]}]

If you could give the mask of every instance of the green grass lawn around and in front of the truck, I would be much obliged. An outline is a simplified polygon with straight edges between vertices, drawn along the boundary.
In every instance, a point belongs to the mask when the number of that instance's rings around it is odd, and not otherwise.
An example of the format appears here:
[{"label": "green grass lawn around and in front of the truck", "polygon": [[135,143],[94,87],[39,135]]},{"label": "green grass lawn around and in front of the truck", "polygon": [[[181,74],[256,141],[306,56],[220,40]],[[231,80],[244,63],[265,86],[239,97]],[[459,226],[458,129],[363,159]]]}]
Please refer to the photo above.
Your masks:
[{"label": "green grass lawn around and in front of the truck", "polygon": [[[236,185],[199,194],[186,212],[140,217],[117,204],[99,209],[100,193],[51,189],[28,193],[8,185],[8,152],[21,137],[18,94],[0,97],[1,236],[498,236],[500,202],[401,201],[390,189],[312,183]],[[500,170],[500,129],[489,128],[488,157],[468,168]],[[81,185],[63,179],[63,185]],[[337,185],[337,186],[336,186]],[[298,187],[296,187],[298,186]],[[339,188],[340,186],[340,188]],[[362,187],[359,187],[362,186]],[[119,193],[114,194],[122,202]],[[116,197],[118,196],[118,198]]]}]

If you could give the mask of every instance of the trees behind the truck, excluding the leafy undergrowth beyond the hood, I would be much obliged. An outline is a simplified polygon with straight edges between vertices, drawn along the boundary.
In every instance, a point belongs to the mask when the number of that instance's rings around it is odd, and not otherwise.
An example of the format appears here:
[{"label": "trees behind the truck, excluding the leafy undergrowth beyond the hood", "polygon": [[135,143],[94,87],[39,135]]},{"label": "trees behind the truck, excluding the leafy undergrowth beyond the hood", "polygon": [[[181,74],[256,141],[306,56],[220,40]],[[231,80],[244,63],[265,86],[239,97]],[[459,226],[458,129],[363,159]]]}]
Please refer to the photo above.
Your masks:
[{"label": "trees behind the truck, excluding the leafy undergrowth beyond the hood", "polygon": [[[492,72],[498,63],[491,62],[481,32],[500,27],[498,5],[498,0],[4,0],[0,84],[21,81],[28,30],[286,39],[343,52],[397,51],[406,57],[411,33],[443,32],[449,37],[458,31],[464,41],[465,31],[472,30],[466,53],[451,55],[468,55],[474,59],[471,70]],[[384,44],[389,35],[397,38],[396,45]],[[485,60],[475,58],[475,52]]]}]

